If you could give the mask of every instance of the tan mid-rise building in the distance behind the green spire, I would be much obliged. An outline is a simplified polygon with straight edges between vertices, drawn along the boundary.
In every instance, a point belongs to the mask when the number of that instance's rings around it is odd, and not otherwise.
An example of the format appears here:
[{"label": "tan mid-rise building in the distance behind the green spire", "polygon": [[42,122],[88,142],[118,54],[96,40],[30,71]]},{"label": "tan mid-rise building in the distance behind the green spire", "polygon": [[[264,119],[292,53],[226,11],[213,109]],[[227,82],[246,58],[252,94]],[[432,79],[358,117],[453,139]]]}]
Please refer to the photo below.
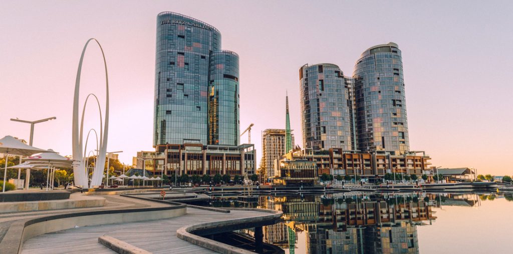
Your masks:
[{"label": "tan mid-rise building in the distance behind the green spire", "polygon": [[[286,152],[286,130],[265,129],[262,132],[262,166],[267,178],[274,177],[274,160],[280,159]],[[294,134],[291,133],[291,143],[294,147]]]}]

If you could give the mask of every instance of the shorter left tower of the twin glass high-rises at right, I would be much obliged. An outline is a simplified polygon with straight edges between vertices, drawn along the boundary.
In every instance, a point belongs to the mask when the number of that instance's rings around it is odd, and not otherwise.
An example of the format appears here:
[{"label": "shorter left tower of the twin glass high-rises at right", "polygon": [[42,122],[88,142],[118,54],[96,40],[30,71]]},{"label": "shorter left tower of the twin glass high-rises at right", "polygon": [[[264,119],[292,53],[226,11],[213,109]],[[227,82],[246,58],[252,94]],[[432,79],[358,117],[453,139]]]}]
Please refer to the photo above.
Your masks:
[{"label": "shorter left tower of the twin glass high-rises at right", "polygon": [[334,64],[307,64],[299,79],[303,146],[353,150],[350,83],[344,73]]}]

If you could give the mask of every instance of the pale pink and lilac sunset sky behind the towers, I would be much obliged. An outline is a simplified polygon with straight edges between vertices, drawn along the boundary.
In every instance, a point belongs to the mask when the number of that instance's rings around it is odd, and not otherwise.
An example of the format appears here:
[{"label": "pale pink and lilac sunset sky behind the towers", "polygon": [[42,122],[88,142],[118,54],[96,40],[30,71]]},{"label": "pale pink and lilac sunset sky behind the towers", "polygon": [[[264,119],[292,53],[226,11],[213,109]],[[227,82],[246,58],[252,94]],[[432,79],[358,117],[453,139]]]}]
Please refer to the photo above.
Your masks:
[{"label": "pale pink and lilac sunset sky behind the towers", "polygon": [[[340,1],[2,1],[0,2],[0,136],[71,154],[71,113],[78,60],[95,37],[107,57],[110,90],[108,150],[131,164],[152,148],[156,15],[173,11],[222,33],[223,49],[240,55],[241,130],[291,128],[302,145],[299,68],[333,63],[351,75],[370,46],[397,43],[403,52],[410,148],[435,166],[513,174],[513,4],[507,1],[413,3]],[[100,52],[91,47],[82,98],[104,99]],[[93,105],[93,104],[91,104]],[[96,128],[94,107],[85,129]],[[241,139],[247,142],[247,136]]]}]

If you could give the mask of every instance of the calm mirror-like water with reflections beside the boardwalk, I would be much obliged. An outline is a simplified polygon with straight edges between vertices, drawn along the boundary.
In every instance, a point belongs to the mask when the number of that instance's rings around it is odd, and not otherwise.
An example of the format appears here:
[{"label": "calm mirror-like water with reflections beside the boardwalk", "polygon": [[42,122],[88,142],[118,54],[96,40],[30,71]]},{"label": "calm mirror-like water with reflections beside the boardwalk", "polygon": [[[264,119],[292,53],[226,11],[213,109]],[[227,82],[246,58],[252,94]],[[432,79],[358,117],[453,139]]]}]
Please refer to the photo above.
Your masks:
[{"label": "calm mirror-like water with reflections beside the boardwalk", "polygon": [[[285,253],[513,253],[511,194],[333,194],[218,199],[283,211],[264,242]],[[242,230],[248,236],[252,230]]]}]

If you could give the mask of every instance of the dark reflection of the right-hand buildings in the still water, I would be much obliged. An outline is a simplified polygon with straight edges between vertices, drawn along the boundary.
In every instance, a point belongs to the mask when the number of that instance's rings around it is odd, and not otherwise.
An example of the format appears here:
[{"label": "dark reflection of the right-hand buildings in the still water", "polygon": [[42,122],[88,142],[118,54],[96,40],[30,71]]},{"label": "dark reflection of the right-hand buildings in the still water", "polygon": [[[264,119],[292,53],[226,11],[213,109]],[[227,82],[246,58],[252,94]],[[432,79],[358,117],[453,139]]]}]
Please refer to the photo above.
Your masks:
[{"label": "dark reflection of the right-hand buildings in the still water", "polygon": [[[237,204],[231,206],[252,206]],[[283,211],[264,227],[264,242],[286,253],[419,253],[417,226],[436,219],[432,207],[479,205],[476,194],[372,194],[260,197],[258,207]],[[252,235],[251,230],[246,230]],[[298,236],[306,241],[298,244]]]}]

